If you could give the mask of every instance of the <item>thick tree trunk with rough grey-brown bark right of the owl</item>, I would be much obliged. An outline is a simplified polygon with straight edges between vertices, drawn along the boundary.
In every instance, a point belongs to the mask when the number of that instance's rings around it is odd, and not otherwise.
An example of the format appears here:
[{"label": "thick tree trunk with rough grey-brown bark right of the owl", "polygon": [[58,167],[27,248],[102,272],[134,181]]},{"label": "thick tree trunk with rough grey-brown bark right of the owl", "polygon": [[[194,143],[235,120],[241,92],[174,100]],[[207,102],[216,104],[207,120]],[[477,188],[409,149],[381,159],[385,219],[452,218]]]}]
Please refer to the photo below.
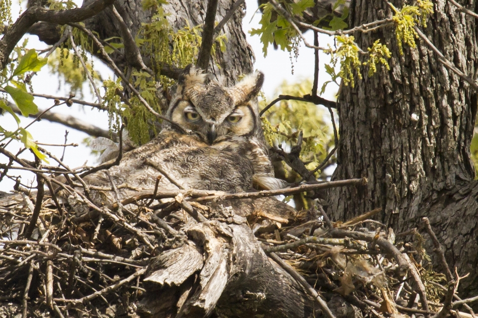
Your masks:
[{"label": "thick tree trunk with rough grey-brown bark right of the owl", "polygon": [[[392,1],[401,8],[407,2]],[[477,11],[476,1],[460,1]],[[422,28],[426,36],[466,76],[476,79],[477,25],[445,0]],[[412,3],[409,3],[412,4]],[[350,26],[392,15],[383,0],[354,0]],[[345,220],[381,207],[381,222],[403,232],[429,217],[451,265],[468,293],[478,291],[478,184],[470,160],[477,91],[439,63],[417,39],[400,56],[394,28],[356,34],[360,47],[380,38],[391,49],[390,71],[342,87],[338,101],[340,142],[334,179],[367,177],[368,188],[329,192],[329,213]]]}]

